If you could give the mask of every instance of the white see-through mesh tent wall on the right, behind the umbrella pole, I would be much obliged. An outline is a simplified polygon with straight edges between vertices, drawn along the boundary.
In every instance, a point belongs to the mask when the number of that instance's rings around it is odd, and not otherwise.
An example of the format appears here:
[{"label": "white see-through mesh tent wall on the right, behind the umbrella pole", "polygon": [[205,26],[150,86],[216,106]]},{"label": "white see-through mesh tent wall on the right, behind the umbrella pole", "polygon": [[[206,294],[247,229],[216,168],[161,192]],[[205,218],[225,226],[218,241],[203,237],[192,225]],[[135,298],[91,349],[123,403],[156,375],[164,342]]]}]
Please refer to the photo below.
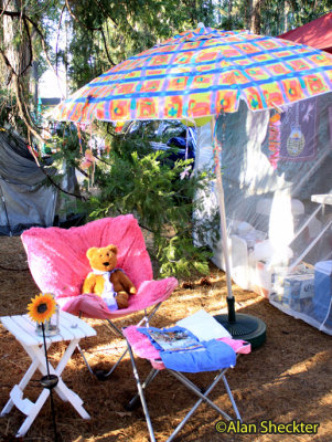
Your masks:
[{"label": "white see-through mesh tent wall on the right, behind the umbrella pole", "polygon": [[[282,110],[278,125],[275,112],[251,113],[242,103],[217,124],[231,273],[243,288],[332,335],[332,94]],[[208,129],[199,130],[197,169],[213,162]],[[200,222],[217,204],[211,187]],[[222,242],[213,261],[224,269]]]}]

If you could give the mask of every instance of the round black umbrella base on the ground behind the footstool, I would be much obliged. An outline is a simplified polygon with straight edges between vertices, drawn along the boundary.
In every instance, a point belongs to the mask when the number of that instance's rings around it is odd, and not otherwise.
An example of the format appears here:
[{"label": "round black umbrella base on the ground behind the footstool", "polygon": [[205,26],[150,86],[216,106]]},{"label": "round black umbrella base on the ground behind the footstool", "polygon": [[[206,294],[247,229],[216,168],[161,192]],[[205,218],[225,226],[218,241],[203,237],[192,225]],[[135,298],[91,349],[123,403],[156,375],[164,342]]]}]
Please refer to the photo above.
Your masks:
[{"label": "round black umbrella base on the ground behind the footstool", "polygon": [[251,348],[261,346],[266,339],[265,323],[251,315],[236,313],[235,320],[228,320],[228,314],[216,315],[214,318],[222,324],[234,339],[247,340]]}]

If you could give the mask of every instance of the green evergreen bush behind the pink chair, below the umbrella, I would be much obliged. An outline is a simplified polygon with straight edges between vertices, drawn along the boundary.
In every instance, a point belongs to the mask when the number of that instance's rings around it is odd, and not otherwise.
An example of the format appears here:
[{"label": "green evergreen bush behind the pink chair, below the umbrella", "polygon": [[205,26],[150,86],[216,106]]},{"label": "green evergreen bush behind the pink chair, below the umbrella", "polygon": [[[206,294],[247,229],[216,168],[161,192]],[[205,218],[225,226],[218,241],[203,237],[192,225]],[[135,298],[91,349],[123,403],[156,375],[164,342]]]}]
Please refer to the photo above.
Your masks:
[{"label": "green evergreen bush behind the pink chair, below the umbrella", "polygon": [[[57,146],[58,158],[63,152],[68,165],[72,161],[78,167],[77,144],[75,147],[73,141],[71,149],[58,137]],[[193,244],[193,211],[201,204],[194,198],[195,191],[207,186],[208,173],[181,179],[192,160],[178,160],[171,167],[167,155],[151,151],[144,139],[138,145],[116,136],[113,146],[101,155],[95,151],[95,187],[86,189],[88,200],[79,210],[88,214],[88,220],[133,213],[149,232],[150,253],[158,260],[160,275],[206,274],[211,252]],[[211,230],[211,225],[204,224],[200,230]]]}]

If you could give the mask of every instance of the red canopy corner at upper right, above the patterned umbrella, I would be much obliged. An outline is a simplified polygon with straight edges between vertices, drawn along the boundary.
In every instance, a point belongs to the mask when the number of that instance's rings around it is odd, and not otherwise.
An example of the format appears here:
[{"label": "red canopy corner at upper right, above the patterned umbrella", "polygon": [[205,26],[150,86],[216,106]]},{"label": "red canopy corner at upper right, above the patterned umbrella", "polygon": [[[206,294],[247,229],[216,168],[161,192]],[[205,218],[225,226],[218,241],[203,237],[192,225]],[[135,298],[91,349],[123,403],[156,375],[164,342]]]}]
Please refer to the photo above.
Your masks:
[{"label": "red canopy corner at upper right, above the patterned umbrella", "polygon": [[278,39],[290,40],[332,53],[332,12],[278,35]]}]

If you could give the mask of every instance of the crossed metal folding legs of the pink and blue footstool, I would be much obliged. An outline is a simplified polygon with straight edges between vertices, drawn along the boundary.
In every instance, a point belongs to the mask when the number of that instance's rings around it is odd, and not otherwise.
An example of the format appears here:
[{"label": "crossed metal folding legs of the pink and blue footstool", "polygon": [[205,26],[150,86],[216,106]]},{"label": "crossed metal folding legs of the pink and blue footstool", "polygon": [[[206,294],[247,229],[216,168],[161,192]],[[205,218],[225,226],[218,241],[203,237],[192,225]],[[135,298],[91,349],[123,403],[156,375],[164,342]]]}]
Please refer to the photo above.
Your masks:
[{"label": "crossed metal folding legs of the pink and blue footstool", "polygon": [[[132,365],[133,377],[136,379],[137,389],[138,389],[138,393],[131,399],[131,401],[127,406],[127,409],[128,410],[132,409],[135,407],[137,400],[140,399],[142,408],[143,408],[143,412],[144,412],[144,415],[146,415],[146,421],[147,421],[147,425],[148,425],[148,430],[149,430],[149,434],[150,434],[150,440],[151,440],[151,442],[156,442],[154,431],[153,431],[151,418],[150,418],[150,414],[149,414],[147,401],[146,401],[146,398],[144,398],[144,390],[147,389],[149,383],[156,378],[156,376],[161,370],[152,368],[152,370],[149,372],[147,379],[141,383],[139,375],[138,375],[137,366],[136,366],[136,362],[135,362],[135,356],[133,356],[131,346],[128,343],[127,338],[126,338],[126,340],[127,340],[127,350],[129,351],[129,356],[130,356],[130,360],[131,360],[131,365]],[[200,398],[196,401],[196,403],[193,406],[193,408],[186,413],[184,419],[179,423],[179,425],[175,428],[175,430],[172,432],[172,434],[169,436],[167,442],[171,442],[176,436],[176,434],[182,430],[182,428],[185,425],[188,420],[192,417],[192,414],[196,411],[196,409],[200,407],[200,404],[202,402],[208,403],[217,413],[219,413],[226,420],[228,420],[228,421],[233,420],[233,418],[229,414],[227,414],[225,411],[223,411],[219,407],[217,407],[207,397],[211,393],[211,391],[214,389],[214,387],[218,383],[218,381],[221,379],[224,382],[226,392],[228,394],[228,398],[229,398],[231,403],[233,406],[234,412],[236,414],[236,419],[242,422],[240,414],[238,412],[237,406],[235,403],[235,399],[234,399],[234,397],[232,394],[232,390],[231,390],[231,388],[228,386],[228,382],[227,382],[227,379],[226,379],[226,376],[225,376],[225,373],[228,370],[228,368],[229,367],[224,368],[222,370],[218,370],[218,372],[215,376],[213,382],[204,391],[202,391],[200,388],[197,388],[197,386],[195,386],[191,380],[189,380],[182,372],[175,371],[175,370],[171,370],[169,368],[164,368],[163,369],[163,370],[168,371],[169,373],[171,373],[172,376],[174,376],[178,380],[180,380],[185,387],[188,387],[192,392],[194,392]]]}]

